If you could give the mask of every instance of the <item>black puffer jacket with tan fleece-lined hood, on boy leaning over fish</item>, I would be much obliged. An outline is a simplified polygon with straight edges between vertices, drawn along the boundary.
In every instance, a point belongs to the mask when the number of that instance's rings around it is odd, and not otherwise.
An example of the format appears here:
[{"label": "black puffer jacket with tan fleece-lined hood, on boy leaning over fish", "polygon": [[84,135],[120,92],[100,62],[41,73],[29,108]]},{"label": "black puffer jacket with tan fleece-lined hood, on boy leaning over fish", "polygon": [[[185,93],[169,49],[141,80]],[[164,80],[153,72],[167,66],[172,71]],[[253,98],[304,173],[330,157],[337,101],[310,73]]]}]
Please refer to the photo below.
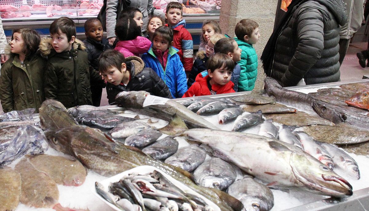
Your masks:
[{"label": "black puffer jacket with tan fleece-lined hood, on boy leaning over fish", "polygon": [[124,85],[115,86],[113,84],[106,84],[106,92],[109,104],[115,104],[115,96],[123,91],[146,91],[151,95],[170,98],[172,94],[164,81],[149,67],[145,67],[144,61],[137,56],[130,56],[126,58],[125,64],[130,70],[131,80],[127,87]]}]

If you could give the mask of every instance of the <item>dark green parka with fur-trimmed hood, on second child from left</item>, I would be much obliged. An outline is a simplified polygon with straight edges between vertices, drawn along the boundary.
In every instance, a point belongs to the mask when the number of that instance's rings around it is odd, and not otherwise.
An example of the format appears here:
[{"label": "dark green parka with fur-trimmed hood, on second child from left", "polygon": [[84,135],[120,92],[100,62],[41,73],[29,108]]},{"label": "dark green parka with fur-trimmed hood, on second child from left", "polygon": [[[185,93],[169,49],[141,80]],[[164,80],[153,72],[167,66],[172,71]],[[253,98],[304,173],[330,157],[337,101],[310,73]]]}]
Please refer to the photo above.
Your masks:
[{"label": "dark green parka with fur-trimmed hood, on second child from left", "polygon": [[76,39],[69,51],[56,53],[51,38],[40,43],[41,53],[48,62],[45,73],[45,97],[56,99],[66,108],[92,105],[90,77],[101,79],[97,71],[90,70],[83,43]]}]

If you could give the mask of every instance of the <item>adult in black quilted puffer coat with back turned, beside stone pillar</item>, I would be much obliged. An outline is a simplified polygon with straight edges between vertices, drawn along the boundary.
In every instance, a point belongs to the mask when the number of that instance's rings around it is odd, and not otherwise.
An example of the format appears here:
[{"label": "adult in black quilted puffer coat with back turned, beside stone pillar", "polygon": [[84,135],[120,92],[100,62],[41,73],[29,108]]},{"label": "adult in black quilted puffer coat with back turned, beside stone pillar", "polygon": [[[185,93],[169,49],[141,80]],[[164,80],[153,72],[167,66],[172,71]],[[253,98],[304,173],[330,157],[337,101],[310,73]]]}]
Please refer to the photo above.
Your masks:
[{"label": "adult in black quilted puffer coat with back turned, beside stone pillar", "polygon": [[340,0],[294,0],[273,31],[261,60],[267,76],[283,87],[339,81],[339,25],[346,22]]}]

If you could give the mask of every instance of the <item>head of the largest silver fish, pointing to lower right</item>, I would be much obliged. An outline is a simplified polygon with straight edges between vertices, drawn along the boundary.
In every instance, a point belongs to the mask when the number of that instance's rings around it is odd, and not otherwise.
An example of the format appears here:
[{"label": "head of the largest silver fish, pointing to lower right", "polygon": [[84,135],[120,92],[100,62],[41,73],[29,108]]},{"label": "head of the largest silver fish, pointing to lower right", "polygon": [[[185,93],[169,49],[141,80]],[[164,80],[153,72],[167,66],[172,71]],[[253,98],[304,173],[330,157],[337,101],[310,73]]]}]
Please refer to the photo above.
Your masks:
[{"label": "head of the largest silver fish, pointing to lower right", "polygon": [[290,165],[294,176],[307,191],[333,197],[352,195],[352,186],[347,180],[305,152],[294,151]]}]

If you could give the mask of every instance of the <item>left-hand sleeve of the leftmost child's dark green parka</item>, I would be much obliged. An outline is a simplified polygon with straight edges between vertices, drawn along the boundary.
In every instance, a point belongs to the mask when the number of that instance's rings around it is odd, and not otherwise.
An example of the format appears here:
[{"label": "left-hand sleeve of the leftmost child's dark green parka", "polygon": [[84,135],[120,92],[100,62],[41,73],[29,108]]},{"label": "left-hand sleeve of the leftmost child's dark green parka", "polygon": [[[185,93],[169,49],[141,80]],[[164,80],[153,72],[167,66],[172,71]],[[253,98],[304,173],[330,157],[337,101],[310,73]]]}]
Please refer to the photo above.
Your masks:
[{"label": "left-hand sleeve of the leftmost child's dark green parka", "polygon": [[4,63],[0,74],[0,100],[5,113],[14,110],[12,87],[13,74],[11,73],[11,68],[9,68],[8,63],[9,61]]}]

